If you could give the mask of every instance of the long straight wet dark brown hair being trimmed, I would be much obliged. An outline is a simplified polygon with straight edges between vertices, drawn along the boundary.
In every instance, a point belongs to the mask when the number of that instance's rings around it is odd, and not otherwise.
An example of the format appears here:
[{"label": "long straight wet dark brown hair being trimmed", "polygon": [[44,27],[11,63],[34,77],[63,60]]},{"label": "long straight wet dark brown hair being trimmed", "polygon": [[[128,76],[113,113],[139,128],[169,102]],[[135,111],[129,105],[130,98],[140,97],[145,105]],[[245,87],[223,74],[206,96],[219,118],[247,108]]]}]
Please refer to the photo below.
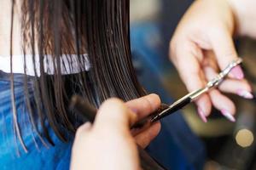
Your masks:
[{"label": "long straight wet dark brown hair being trimmed", "polygon": [[[54,144],[49,138],[45,120],[63,141],[67,141],[68,134],[74,133],[78,127],[78,118],[68,111],[73,94],[83,96],[97,107],[110,97],[130,100],[145,94],[131,63],[129,3],[129,0],[23,1],[21,35],[24,60],[26,54],[32,54],[36,74],[32,78],[33,104],[27,88],[28,76],[24,77],[26,107],[32,127],[44,144],[44,139]],[[12,15],[14,8],[15,0]],[[12,58],[12,48],[10,54]],[[36,54],[40,74],[36,71]],[[79,71],[64,76],[61,74],[61,58],[66,56],[72,61],[71,54],[77,56],[79,68],[72,68],[71,65],[68,69]],[[89,61],[84,61],[84,54],[88,54]],[[47,67],[44,62],[46,55],[54,60],[53,75],[47,74],[44,69]],[[90,69],[84,71],[88,62]],[[24,71],[26,75],[26,65]],[[23,125],[20,125],[15,108],[15,78],[13,73],[11,75],[15,136],[26,150],[20,133],[20,126]],[[43,128],[43,133],[39,132],[38,126]]]}]

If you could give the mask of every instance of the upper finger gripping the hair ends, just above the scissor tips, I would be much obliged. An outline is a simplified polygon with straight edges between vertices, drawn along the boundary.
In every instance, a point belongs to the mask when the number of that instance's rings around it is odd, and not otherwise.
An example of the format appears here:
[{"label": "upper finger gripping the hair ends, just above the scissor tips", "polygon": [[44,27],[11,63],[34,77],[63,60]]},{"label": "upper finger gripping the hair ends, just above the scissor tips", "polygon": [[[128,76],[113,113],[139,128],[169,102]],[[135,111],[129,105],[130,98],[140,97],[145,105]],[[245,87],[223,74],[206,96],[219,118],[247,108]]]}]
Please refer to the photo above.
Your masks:
[{"label": "upper finger gripping the hair ends, just above the scissor tips", "polygon": [[157,94],[149,94],[139,99],[133,99],[125,103],[131,111],[137,113],[137,120],[148,116],[160,107],[160,97]]}]

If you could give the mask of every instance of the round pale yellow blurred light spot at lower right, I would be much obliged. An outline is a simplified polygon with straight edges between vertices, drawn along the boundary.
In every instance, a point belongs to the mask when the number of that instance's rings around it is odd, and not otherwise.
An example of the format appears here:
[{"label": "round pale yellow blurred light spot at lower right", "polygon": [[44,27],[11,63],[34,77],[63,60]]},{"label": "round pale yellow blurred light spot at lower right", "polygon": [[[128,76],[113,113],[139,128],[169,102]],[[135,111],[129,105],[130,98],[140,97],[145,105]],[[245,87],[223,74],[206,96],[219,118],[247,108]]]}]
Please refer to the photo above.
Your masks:
[{"label": "round pale yellow blurred light spot at lower right", "polygon": [[253,133],[248,129],[241,129],[236,133],[236,143],[246,148],[253,144]]}]

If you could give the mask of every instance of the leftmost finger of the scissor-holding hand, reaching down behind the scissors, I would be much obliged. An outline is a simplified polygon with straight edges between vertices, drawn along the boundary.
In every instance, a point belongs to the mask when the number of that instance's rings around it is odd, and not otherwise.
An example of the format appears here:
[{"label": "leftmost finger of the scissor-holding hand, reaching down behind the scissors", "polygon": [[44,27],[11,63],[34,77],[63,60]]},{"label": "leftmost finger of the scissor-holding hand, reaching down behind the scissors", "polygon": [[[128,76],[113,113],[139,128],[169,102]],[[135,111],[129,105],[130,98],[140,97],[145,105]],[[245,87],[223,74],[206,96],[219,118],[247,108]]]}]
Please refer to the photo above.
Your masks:
[{"label": "leftmost finger of the scissor-holding hand, reaching down behind the scissors", "polygon": [[[185,45],[184,45],[185,44]],[[175,65],[180,77],[188,88],[189,92],[203,88],[205,86],[205,76],[202,71],[200,62],[202,62],[201,49],[194,45],[193,42],[184,42],[183,45],[178,45],[176,48],[172,48],[175,55]],[[197,51],[197,53],[195,53]],[[186,57],[186,58],[184,58]],[[203,122],[207,122],[206,116],[211,112],[211,100],[207,94],[204,94],[195,101],[198,106],[198,114],[201,116]]]}]

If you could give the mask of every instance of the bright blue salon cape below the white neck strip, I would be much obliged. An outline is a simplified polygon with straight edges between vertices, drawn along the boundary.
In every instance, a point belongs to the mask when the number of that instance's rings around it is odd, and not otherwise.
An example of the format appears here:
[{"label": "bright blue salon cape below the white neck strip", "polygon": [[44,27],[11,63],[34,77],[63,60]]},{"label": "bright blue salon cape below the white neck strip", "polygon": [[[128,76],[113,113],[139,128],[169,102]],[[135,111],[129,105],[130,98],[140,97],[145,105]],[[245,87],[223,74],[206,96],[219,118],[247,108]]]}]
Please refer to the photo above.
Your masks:
[{"label": "bright blue salon cape below the white neck strip", "polygon": [[[20,119],[20,132],[28,153],[22,149],[20,141],[15,139],[10,98],[9,74],[0,71],[0,169],[69,169],[72,142],[63,143],[49,128],[49,135],[55,146],[48,148],[42,144],[33,131],[28,114],[26,114],[23,76],[15,75],[15,100],[17,116]],[[29,83],[32,95],[32,84]]]}]

